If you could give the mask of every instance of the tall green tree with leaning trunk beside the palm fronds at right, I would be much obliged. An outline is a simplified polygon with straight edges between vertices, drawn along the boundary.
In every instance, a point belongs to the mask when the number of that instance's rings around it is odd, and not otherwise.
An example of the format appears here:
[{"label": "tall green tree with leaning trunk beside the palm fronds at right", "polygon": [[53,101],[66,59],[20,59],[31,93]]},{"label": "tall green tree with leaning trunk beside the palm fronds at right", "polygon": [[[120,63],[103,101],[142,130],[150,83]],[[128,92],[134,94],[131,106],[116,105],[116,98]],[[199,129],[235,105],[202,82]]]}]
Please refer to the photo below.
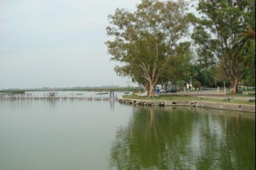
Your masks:
[{"label": "tall green tree with leaning trunk beside the palm fronds at right", "polygon": [[199,0],[197,10],[201,16],[189,15],[194,26],[191,37],[197,44],[199,61],[205,67],[216,61],[232,83],[234,93],[244,74],[245,58],[232,52],[230,42],[238,27],[243,25],[249,7],[249,1]]}]

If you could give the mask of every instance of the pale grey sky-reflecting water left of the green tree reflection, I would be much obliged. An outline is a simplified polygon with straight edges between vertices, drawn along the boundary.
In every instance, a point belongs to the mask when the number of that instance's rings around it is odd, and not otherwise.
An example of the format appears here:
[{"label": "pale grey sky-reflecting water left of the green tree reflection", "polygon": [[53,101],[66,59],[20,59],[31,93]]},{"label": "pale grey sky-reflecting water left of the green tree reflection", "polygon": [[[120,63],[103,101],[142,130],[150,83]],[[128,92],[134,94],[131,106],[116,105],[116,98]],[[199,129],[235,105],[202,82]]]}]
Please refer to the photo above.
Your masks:
[{"label": "pale grey sky-reflecting water left of the green tree reflection", "polygon": [[0,101],[0,169],[108,169],[116,127],[132,111],[111,102]]}]

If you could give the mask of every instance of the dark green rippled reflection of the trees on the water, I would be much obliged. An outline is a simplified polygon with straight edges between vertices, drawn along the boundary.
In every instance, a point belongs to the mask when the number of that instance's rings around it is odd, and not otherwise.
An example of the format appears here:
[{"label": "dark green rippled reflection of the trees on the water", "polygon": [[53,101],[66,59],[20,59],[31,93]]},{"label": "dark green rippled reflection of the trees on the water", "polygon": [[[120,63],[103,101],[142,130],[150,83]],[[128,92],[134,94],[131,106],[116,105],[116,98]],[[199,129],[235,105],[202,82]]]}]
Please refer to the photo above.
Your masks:
[{"label": "dark green rippled reflection of the trees on the water", "polygon": [[114,169],[255,169],[255,114],[135,107],[110,148]]}]

